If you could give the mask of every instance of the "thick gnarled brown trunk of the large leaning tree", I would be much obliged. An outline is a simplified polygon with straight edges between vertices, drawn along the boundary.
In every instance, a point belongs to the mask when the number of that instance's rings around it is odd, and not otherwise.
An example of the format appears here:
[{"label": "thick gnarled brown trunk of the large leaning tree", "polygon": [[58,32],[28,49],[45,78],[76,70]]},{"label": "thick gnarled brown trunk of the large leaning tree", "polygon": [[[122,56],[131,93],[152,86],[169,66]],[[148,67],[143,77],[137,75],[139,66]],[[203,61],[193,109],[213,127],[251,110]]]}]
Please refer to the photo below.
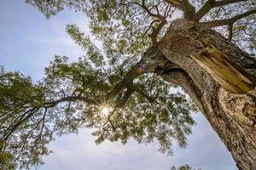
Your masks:
[{"label": "thick gnarled brown trunk of the large leaning tree", "polygon": [[187,91],[239,169],[256,169],[256,60],[189,20],[175,20],[159,50],[178,67],[163,68],[163,79]]}]

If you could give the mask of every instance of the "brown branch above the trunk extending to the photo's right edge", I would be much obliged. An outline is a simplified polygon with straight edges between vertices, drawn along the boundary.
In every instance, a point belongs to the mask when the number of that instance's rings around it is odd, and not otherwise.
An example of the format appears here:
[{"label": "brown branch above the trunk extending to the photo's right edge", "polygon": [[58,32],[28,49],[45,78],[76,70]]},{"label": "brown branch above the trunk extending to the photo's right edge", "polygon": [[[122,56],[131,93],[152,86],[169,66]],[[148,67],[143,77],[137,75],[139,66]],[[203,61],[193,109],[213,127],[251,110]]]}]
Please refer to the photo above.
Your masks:
[{"label": "brown branch above the trunk extending to the photo's right edge", "polygon": [[210,22],[203,22],[202,24],[209,26],[210,28],[218,27],[218,26],[230,26],[233,25],[237,20],[241,20],[242,18],[245,18],[249,15],[256,14],[256,9],[247,11],[243,14],[238,14],[230,19],[224,19],[224,20],[213,20]]}]

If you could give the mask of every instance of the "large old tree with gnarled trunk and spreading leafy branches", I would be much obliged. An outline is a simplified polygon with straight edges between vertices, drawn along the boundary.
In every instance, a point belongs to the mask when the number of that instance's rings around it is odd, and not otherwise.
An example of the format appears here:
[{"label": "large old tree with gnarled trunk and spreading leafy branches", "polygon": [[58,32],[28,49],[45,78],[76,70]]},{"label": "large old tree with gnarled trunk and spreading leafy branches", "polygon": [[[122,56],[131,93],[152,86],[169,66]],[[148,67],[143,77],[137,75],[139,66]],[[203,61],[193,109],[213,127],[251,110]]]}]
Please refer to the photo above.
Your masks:
[{"label": "large old tree with gnarled trunk and spreading leafy branches", "polygon": [[[171,139],[184,147],[195,124],[195,106],[170,90],[178,86],[207,117],[237,167],[256,168],[253,0],[26,3],[48,18],[65,7],[83,11],[102,50],[69,25],[67,32],[86,52],[78,62],[55,56],[36,84],[2,69],[1,151],[14,157],[7,164],[37,165],[49,154],[45,144],[54,133],[79,127],[95,128],[97,143],[157,139],[160,150],[172,154]],[[177,15],[183,18],[175,20]]]}]

